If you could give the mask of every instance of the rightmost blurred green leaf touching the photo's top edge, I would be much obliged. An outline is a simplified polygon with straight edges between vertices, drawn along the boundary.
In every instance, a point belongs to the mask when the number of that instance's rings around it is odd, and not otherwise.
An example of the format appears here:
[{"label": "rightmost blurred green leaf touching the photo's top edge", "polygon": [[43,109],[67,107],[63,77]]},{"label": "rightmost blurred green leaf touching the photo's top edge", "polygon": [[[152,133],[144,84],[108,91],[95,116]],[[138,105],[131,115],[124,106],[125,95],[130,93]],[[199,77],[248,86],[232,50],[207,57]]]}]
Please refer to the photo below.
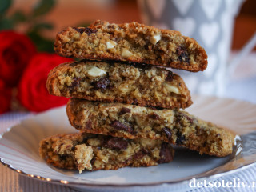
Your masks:
[{"label": "rightmost blurred green leaf touching the photo's top edge", "polygon": [[38,2],[38,4],[36,4],[36,6],[34,6],[32,14],[34,17],[46,14],[53,8],[54,5],[55,0],[41,0]]}]

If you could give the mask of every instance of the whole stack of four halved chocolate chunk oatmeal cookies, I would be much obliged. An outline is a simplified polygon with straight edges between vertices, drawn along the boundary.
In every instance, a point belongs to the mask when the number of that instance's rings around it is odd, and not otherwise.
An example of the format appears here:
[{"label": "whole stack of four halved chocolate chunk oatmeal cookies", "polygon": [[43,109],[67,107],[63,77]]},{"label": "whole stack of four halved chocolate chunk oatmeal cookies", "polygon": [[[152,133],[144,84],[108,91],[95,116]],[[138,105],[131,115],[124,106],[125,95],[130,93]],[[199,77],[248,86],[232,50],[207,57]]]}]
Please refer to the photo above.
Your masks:
[{"label": "whole stack of four halved chocolate chunk oatmeal cookies", "polygon": [[206,52],[194,39],[137,22],[96,21],[66,28],[54,48],[84,59],[57,66],[47,79],[50,94],[70,98],[67,116],[80,133],[42,140],[46,162],[81,173],[170,162],[171,144],[232,153],[233,134],[181,110],[192,104],[190,91],[165,69],[206,69]]}]

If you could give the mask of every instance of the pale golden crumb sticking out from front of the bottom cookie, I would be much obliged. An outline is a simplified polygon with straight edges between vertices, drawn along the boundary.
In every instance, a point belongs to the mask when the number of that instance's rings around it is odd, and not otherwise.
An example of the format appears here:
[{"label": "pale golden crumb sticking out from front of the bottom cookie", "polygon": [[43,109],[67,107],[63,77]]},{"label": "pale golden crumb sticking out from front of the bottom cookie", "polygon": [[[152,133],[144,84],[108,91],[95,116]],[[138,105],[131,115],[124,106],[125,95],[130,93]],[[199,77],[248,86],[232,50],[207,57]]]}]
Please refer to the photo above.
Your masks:
[{"label": "pale golden crumb sticking out from front of the bottom cookie", "polygon": [[78,162],[79,174],[85,169],[92,170],[90,160],[94,157],[94,150],[91,146],[86,146],[86,144],[75,146],[74,156]]}]

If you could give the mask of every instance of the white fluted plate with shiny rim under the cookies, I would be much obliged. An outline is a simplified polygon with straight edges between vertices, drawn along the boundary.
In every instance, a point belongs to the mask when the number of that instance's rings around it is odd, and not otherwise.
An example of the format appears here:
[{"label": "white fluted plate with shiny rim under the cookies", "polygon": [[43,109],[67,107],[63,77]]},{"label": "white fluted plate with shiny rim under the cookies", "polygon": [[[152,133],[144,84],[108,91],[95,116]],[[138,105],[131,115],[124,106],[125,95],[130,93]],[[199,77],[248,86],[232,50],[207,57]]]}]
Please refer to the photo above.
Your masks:
[{"label": "white fluted plate with shiny rim under the cookies", "polygon": [[[227,98],[194,96],[187,111],[219,126],[226,127],[237,137],[234,154],[226,158],[199,155],[178,148],[174,161],[146,168],[122,168],[95,172],[66,171],[46,164],[38,154],[42,138],[54,134],[74,133],[66,117],[65,107],[46,111],[12,127],[0,139],[1,162],[20,174],[46,182],[62,183],[86,190],[146,187],[150,190],[184,190],[191,178],[213,179],[234,173],[256,161],[256,106]],[[248,134],[250,133],[250,134]]]}]

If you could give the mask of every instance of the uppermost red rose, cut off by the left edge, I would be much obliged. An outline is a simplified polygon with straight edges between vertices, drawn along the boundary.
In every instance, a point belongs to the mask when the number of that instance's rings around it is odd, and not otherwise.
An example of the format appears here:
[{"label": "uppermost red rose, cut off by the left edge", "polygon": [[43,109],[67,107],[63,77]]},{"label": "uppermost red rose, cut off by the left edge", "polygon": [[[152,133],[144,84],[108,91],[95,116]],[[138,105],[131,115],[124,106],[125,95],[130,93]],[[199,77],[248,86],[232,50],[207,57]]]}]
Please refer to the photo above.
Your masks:
[{"label": "uppermost red rose, cut off by the left edge", "polygon": [[0,32],[0,78],[7,86],[16,86],[27,63],[36,53],[33,42],[11,30]]}]

